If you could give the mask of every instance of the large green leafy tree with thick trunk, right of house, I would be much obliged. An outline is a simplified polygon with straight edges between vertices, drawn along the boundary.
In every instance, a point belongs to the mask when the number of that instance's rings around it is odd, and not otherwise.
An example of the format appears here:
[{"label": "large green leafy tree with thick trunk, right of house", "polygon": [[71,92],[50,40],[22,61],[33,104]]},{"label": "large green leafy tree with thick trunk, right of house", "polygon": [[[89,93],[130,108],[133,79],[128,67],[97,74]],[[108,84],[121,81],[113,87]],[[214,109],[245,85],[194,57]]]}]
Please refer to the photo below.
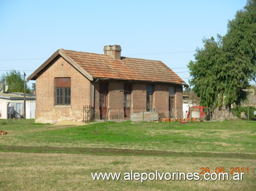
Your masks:
[{"label": "large green leafy tree with thick trunk, right of house", "polygon": [[213,118],[227,118],[231,104],[246,99],[250,81],[256,79],[256,5],[248,0],[243,10],[228,22],[224,37],[203,39],[195,61],[188,67],[193,91],[200,104],[210,108]]}]

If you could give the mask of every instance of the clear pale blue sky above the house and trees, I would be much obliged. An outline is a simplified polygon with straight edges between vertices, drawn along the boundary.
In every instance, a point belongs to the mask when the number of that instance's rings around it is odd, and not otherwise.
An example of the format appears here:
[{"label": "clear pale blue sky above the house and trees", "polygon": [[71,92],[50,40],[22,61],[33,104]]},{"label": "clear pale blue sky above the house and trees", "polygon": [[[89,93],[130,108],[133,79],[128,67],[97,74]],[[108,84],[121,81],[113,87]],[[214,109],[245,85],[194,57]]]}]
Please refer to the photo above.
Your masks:
[{"label": "clear pale blue sky above the house and trees", "polygon": [[[188,83],[187,64],[202,38],[225,35],[246,0],[0,0],[0,76],[26,78],[58,48],[161,60]],[[181,69],[179,69],[181,68]],[[31,80],[31,87],[35,81]]]}]

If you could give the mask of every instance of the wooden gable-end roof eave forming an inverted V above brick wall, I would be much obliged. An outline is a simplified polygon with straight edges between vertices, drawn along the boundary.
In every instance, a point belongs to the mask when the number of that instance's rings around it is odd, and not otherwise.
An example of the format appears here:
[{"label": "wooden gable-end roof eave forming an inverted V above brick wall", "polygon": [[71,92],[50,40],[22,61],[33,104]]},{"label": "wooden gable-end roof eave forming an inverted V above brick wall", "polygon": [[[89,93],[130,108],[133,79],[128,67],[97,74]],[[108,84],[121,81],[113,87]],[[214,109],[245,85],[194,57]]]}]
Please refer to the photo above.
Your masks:
[{"label": "wooden gable-end roof eave forming an inverted V above brick wall", "polygon": [[41,66],[39,66],[30,76],[28,76],[27,81],[36,80],[36,76],[43,70],[53,59],[55,59],[58,55],[61,55],[69,64],[71,64],[75,69],[77,69],[81,74],[87,77],[89,80],[93,80],[92,76],[87,73],[84,69],[82,69],[76,62],[74,62],[69,56],[67,56],[61,49],[58,49],[53,53],[52,56],[49,57]]}]

